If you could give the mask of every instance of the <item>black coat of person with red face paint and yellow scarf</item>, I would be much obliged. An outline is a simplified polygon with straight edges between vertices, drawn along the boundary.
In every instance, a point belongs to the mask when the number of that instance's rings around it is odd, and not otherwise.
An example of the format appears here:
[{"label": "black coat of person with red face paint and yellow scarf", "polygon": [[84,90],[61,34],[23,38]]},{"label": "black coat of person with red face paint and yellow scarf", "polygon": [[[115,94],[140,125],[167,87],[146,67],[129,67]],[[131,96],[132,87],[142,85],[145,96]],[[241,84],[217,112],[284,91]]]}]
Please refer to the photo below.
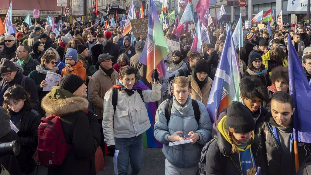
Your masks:
[{"label": "black coat of person with red face paint and yellow scarf", "polygon": [[[231,154],[232,145],[217,132],[216,139],[212,141],[206,153],[206,175],[242,175],[239,168],[239,160],[235,154]],[[263,164],[262,149],[255,135],[251,150],[257,167],[261,168],[261,175],[266,174],[266,166]]]}]

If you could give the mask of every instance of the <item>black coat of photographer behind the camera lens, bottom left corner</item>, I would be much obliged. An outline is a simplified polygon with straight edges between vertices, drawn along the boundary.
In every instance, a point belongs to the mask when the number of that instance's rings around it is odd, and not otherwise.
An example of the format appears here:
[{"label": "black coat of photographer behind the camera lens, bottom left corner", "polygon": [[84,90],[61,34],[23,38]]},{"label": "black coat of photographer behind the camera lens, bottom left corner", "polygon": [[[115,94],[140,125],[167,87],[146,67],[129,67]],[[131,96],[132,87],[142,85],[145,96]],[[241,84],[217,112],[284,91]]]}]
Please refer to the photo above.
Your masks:
[{"label": "black coat of photographer behind the camera lens, bottom left corner", "polygon": [[[10,132],[7,135],[0,138],[0,143],[11,142],[13,140],[19,140],[19,138],[15,131],[10,130]],[[2,164],[5,169],[7,169],[10,175],[21,174],[21,170],[16,156],[13,155],[2,156],[0,158],[0,164]]]}]

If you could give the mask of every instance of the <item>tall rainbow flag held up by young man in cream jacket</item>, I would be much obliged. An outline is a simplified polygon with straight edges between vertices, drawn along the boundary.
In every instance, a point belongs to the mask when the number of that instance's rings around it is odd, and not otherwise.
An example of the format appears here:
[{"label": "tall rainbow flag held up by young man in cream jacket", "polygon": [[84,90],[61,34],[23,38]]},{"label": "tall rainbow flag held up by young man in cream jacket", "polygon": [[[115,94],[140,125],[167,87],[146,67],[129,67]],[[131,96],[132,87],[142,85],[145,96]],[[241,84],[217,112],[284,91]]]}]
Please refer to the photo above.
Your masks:
[{"label": "tall rainbow flag held up by young man in cream jacket", "polygon": [[155,68],[158,70],[159,78],[166,74],[164,57],[169,53],[163,29],[161,28],[158,13],[153,0],[149,0],[148,34],[145,47],[139,58],[139,62],[147,66],[146,79],[151,82],[151,74]]}]

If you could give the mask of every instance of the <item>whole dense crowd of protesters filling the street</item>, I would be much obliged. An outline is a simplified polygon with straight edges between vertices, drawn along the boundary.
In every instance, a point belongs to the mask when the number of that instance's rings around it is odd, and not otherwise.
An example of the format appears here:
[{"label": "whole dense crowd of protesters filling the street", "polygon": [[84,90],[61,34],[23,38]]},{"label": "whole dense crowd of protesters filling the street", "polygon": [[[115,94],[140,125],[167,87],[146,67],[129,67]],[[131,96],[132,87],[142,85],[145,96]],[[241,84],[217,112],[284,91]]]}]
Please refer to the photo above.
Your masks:
[{"label": "whole dense crowd of protesters filling the street", "polygon": [[[20,140],[21,151],[0,158],[2,169],[36,174],[40,119],[58,115],[72,149],[61,165],[48,167],[48,174],[95,174],[98,147],[111,156],[119,151],[119,175],[128,174],[129,163],[129,173],[138,174],[144,166],[143,133],[152,127],[163,144],[166,175],[196,174],[207,143],[204,174],[254,175],[261,169],[262,175],[294,175],[292,115],[297,109],[289,95],[289,44],[308,82],[311,78],[311,32],[302,23],[297,26],[296,31],[290,24],[272,26],[272,36],[267,26],[243,26],[244,46],[236,50],[243,102],[232,102],[212,123],[207,100],[229,29],[208,26],[210,43],[200,52],[191,50],[195,29],[181,36],[172,34],[173,26],[164,29],[166,39],[180,43],[172,60],[165,60],[173,72],[167,83],[157,70],[148,82],[146,65],[139,62],[146,37],[131,41],[132,33],[123,36],[118,21],[115,27],[66,22],[59,35],[45,22],[16,23],[16,34],[0,37],[0,142]],[[48,72],[61,78],[44,91]],[[156,109],[155,125],[145,103]],[[310,161],[310,148],[298,144],[299,165]]]}]

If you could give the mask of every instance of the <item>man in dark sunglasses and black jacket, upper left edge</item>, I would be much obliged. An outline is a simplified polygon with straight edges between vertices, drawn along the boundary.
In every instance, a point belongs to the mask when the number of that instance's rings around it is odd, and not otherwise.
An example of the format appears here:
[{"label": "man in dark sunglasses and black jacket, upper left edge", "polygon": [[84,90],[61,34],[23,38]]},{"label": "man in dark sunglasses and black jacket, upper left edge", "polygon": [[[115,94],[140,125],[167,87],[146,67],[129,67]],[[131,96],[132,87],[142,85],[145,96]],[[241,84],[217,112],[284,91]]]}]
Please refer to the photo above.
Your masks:
[{"label": "man in dark sunglasses and black jacket, upper left edge", "polygon": [[0,58],[12,59],[16,57],[15,37],[13,35],[6,35],[4,38],[4,49],[0,52]]}]

